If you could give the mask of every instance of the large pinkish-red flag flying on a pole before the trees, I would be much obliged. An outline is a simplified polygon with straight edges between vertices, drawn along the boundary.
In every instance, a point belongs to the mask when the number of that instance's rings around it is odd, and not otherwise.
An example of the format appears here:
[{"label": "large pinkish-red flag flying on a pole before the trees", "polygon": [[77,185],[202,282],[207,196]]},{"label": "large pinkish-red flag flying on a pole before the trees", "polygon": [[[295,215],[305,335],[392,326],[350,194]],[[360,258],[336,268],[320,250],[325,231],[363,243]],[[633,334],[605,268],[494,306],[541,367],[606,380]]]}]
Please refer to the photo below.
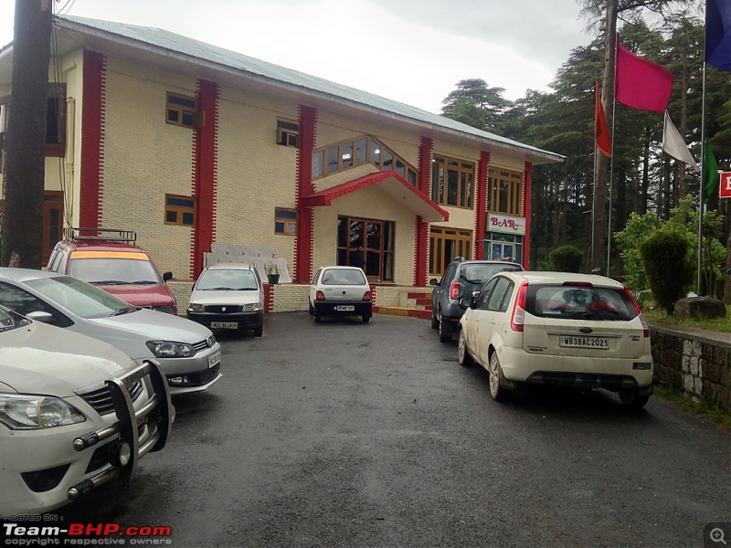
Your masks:
[{"label": "large pinkish-red flag flying on a pole before the trees", "polygon": [[637,57],[617,41],[615,97],[641,111],[663,112],[673,91],[673,73]]}]

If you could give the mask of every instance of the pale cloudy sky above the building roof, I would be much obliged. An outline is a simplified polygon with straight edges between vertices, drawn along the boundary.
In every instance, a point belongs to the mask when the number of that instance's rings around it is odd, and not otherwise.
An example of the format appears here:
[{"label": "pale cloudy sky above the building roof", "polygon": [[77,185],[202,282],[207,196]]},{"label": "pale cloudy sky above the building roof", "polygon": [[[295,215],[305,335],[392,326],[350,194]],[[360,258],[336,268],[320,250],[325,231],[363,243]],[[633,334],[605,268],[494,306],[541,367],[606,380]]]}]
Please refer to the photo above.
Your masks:
[{"label": "pale cloudy sky above the building roof", "polygon": [[[0,44],[16,0],[0,0]],[[53,0],[57,13],[164,28],[426,111],[461,79],[547,91],[591,37],[576,0]]]}]

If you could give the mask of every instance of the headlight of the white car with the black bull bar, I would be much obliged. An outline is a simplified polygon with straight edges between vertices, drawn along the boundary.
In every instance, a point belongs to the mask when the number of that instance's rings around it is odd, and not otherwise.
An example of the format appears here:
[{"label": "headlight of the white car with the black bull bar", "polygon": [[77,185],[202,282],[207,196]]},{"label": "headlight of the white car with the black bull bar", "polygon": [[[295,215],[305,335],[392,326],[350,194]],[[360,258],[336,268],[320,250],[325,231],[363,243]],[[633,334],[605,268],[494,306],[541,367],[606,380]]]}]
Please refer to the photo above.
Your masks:
[{"label": "headlight of the white car with the black bull bar", "polygon": [[65,427],[85,420],[79,409],[58,397],[0,394],[0,422],[12,430]]}]

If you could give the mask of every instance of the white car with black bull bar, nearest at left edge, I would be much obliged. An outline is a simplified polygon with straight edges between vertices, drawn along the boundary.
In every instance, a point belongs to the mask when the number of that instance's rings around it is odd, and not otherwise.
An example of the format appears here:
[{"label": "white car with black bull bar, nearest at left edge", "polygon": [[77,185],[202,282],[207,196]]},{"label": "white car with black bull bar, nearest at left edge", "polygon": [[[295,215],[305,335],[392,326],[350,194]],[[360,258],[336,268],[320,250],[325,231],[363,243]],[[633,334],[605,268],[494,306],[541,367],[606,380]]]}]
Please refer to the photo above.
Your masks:
[{"label": "white car with black bull bar, nearest at left edge", "polygon": [[164,448],[174,417],[159,364],[0,307],[0,517],[39,514]]}]

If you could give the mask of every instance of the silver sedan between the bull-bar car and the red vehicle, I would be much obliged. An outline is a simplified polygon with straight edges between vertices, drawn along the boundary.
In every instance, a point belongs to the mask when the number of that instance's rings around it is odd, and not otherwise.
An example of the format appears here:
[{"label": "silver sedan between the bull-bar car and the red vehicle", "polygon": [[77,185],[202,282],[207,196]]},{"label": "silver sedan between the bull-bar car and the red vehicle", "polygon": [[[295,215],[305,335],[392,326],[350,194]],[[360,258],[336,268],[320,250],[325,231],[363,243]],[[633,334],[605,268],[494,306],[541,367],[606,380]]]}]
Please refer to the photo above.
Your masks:
[{"label": "silver sedan between the bull-bar car and the red vehicle", "polygon": [[0,304],[163,367],[170,393],[206,390],[221,378],[221,346],[206,327],[134,307],[85,281],[33,269],[0,268]]}]

